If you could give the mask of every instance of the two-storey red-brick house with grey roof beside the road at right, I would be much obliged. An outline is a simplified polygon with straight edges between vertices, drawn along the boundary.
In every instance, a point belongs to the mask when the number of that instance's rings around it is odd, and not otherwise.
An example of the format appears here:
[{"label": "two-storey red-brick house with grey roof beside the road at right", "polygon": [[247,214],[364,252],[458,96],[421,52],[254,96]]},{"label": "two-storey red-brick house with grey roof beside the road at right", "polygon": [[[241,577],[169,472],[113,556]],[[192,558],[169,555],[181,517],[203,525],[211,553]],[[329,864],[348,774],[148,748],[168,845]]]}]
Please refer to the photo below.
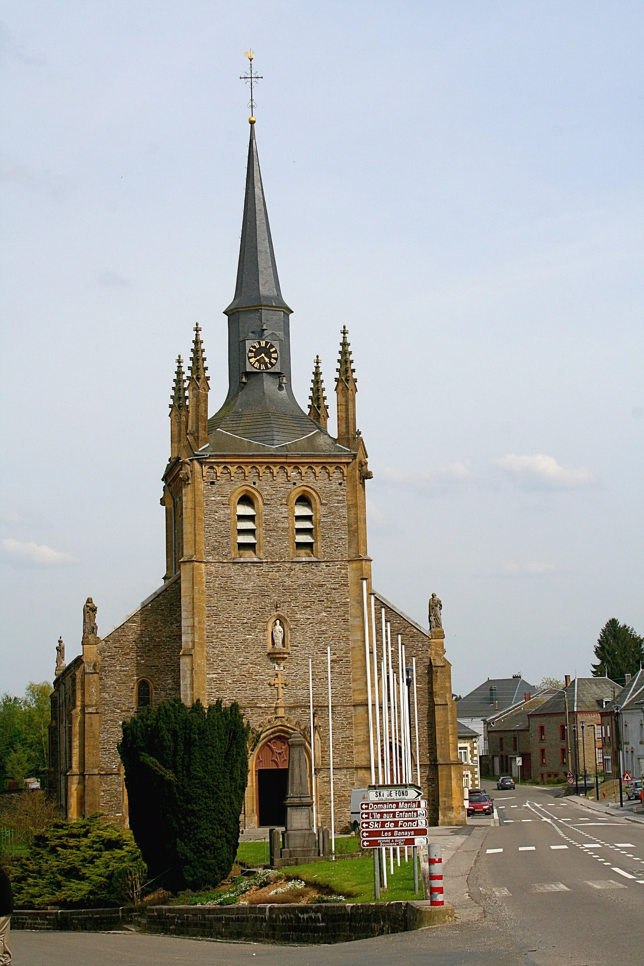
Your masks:
[{"label": "two-storey red-brick house with grey roof beside the road at right", "polygon": [[615,682],[607,677],[566,676],[566,686],[530,712],[532,775],[539,781],[568,772],[602,773],[601,714],[612,698]]}]

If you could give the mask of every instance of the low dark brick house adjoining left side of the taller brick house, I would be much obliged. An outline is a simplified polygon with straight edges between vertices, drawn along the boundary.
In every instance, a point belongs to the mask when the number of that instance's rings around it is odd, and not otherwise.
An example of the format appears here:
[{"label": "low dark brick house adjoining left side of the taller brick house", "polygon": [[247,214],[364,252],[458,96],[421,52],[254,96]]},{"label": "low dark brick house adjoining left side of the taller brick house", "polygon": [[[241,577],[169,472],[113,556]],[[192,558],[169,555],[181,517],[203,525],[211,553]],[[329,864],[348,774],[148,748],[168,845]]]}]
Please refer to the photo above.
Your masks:
[{"label": "low dark brick house adjoining left side of the taller brick house", "polygon": [[[536,711],[553,695],[551,691],[535,696],[526,693],[523,700],[486,721],[490,774],[512,775],[514,779],[533,778],[532,738],[529,713]],[[520,757],[520,775],[517,758]]]}]

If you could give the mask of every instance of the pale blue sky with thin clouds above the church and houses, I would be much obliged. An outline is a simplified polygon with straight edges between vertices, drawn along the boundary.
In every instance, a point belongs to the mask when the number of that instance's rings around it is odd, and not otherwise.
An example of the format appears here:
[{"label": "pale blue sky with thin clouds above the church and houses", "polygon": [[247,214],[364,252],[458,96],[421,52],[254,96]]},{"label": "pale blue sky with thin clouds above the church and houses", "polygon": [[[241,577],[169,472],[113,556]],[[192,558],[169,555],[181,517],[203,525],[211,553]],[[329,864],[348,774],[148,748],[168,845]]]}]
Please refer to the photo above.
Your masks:
[{"label": "pale blue sky with thin clouds above the church and houses", "polygon": [[[306,409],[347,325],[374,586],[453,690],[644,634],[644,9],[0,2],[0,692],[162,582],[174,362],[226,394],[243,51]],[[315,646],[315,642],[313,642]]]}]

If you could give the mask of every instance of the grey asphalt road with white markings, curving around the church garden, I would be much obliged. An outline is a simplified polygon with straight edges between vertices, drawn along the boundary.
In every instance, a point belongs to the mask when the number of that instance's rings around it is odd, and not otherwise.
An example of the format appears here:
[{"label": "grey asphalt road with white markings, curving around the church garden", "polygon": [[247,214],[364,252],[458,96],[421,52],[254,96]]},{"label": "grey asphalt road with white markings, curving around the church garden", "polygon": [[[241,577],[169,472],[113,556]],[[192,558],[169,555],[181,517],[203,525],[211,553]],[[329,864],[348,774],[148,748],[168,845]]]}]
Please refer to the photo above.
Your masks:
[{"label": "grey asphalt road with white markings, curving around the church garden", "polygon": [[[485,918],[326,947],[134,933],[14,932],[15,966],[612,966],[644,964],[644,825],[518,787],[496,791],[469,876]],[[480,824],[482,820],[477,820]],[[490,819],[488,819],[490,821]],[[449,873],[449,864],[445,869]]]}]

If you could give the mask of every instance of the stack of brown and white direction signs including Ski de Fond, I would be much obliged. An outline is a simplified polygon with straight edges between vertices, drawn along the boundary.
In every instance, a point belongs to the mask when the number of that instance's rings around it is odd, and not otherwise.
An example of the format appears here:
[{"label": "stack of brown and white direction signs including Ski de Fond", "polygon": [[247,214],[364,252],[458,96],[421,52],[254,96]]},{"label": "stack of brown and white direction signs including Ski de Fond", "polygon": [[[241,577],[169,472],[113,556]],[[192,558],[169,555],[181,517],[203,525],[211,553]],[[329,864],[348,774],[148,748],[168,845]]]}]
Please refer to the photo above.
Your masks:
[{"label": "stack of brown and white direction signs including Ski de Fond", "polygon": [[360,803],[362,848],[427,845],[427,801],[418,785],[372,785]]}]

